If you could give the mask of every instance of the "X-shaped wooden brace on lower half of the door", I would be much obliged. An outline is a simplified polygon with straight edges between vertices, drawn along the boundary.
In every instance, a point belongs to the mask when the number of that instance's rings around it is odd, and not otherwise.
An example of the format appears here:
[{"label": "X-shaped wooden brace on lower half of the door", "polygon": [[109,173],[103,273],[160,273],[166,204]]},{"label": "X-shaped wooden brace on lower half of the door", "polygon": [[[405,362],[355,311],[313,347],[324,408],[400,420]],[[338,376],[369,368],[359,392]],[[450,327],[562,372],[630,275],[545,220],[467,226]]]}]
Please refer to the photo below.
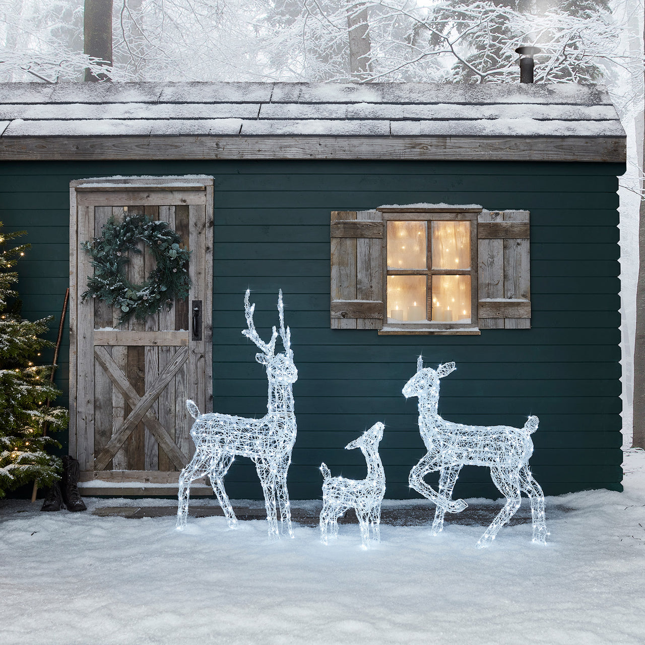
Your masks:
[{"label": "X-shaped wooden brace on lower half of the door", "polygon": [[97,455],[94,461],[94,468],[96,470],[104,470],[139,421],[143,421],[146,428],[150,430],[150,433],[159,442],[159,446],[166,452],[170,461],[181,470],[186,465],[186,462],[188,462],[188,457],[181,452],[179,446],[168,435],[166,429],[159,422],[159,419],[150,412],[150,406],[159,398],[159,395],[170,382],[170,379],[174,378],[175,374],[179,372],[181,366],[188,359],[188,348],[181,347],[175,352],[172,361],[157,376],[143,397],[137,394],[126,375],[121,372],[121,369],[114,362],[114,359],[112,359],[104,346],[95,346],[94,356],[132,410],[123,421],[121,427],[112,435],[112,439],[108,441],[105,448]]}]

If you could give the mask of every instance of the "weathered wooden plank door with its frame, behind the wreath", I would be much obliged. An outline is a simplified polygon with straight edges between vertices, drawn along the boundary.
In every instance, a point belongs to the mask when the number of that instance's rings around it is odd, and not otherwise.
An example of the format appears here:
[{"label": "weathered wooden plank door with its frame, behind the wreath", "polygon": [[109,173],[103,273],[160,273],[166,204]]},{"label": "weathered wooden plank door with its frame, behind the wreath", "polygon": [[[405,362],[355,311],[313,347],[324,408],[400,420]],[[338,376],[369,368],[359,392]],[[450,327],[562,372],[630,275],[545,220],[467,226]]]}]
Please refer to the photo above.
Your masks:
[{"label": "weathered wooden plank door with its frame, behind the wreath", "polygon": [[[82,481],[172,484],[194,452],[186,399],[212,410],[213,180],[74,181],[70,204],[70,454]],[[93,271],[81,244],[124,212],[179,233],[191,252],[192,286],[171,310],[119,325],[112,306],[81,299]],[[135,284],[154,268],[140,245],[126,264]]]}]

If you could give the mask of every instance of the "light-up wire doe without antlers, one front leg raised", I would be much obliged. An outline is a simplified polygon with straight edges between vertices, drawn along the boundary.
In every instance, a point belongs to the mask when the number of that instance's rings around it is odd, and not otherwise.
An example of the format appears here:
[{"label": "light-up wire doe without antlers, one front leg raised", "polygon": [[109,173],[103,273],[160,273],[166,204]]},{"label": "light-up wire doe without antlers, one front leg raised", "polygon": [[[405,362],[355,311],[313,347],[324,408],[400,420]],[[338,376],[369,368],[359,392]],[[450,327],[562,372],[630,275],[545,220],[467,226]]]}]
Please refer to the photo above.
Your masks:
[{"label": "light-up wire doe without antlers, one front leg raised", "polygon": [[[439,379],[453,370],[453,362],[440,365],[436,371],[424,368],[423,358],[419,356],[417,373],[403,388],[406,399],[419,397],[419,430],[428,453],[410,471],[410,486],[437,505],[432,534],[437,535],[442,530],[446,511],[459,513],[468,506],[462,499],[451,499],[462,466],[488,466],[493,483],[506,497],[506,504],[479,539],[477,547],[489,546],[497,531],[515,514],[521,503],[522,490],[531,501],[533,542],[544,544],[547,535],[544,494],[528,468],[533,454],[531,434],[537,430],[537,417],[528,417],[523,428],[466,426],[445,421],[437,412]],[[441,471],[438,493],[423,480],[428,473],[437,470]]]}]

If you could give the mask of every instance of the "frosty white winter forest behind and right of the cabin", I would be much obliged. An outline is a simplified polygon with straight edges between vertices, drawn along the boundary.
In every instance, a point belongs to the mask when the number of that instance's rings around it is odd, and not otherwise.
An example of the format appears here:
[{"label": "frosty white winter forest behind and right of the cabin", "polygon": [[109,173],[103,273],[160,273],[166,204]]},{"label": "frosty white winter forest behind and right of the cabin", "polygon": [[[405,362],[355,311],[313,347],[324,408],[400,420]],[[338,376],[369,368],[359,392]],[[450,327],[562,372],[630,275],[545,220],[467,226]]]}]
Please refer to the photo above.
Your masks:
[{"label": "frosty white winter forest behind and right of the cabin", "polygon": [[[110,8],[112,52],[84,53],[90,51],[85,12],[104,30]],[[106,81],[517,83],[514,50],[535,45],[542,49],[536,83],[606,84],[628,135],[620,246],[630,444],[643,15],[642,0],[0,0],[0,81],[83,81],[89,69]],[[645,333],[641,344],[645,359]],[[636,434],[645,444],[645,390],[637,388],[639,400],[643,422]]]}]

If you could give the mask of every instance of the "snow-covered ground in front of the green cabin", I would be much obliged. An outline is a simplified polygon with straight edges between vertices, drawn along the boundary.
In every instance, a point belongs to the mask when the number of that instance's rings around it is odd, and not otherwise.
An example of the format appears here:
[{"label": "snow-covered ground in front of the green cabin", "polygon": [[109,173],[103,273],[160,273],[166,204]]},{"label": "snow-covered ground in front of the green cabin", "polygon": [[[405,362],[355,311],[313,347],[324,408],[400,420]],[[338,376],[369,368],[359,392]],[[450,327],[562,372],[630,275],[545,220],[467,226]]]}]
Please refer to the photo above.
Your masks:
[{"label": "snow-covered ground in front of the green cabin", "polygon": [[269,542],[265,521],[190,518],[178,532],[173,517],[90,512],[168,501],[90,499],[86,513],[0,501],[0,642],[642,644],[645,453],[625,469],[624,493],[548,498],[548,546],[518,524],[488,550],[472,524],[440,537],[382,526],[362,551],[356,524],[325,547],[302,525]]}]

